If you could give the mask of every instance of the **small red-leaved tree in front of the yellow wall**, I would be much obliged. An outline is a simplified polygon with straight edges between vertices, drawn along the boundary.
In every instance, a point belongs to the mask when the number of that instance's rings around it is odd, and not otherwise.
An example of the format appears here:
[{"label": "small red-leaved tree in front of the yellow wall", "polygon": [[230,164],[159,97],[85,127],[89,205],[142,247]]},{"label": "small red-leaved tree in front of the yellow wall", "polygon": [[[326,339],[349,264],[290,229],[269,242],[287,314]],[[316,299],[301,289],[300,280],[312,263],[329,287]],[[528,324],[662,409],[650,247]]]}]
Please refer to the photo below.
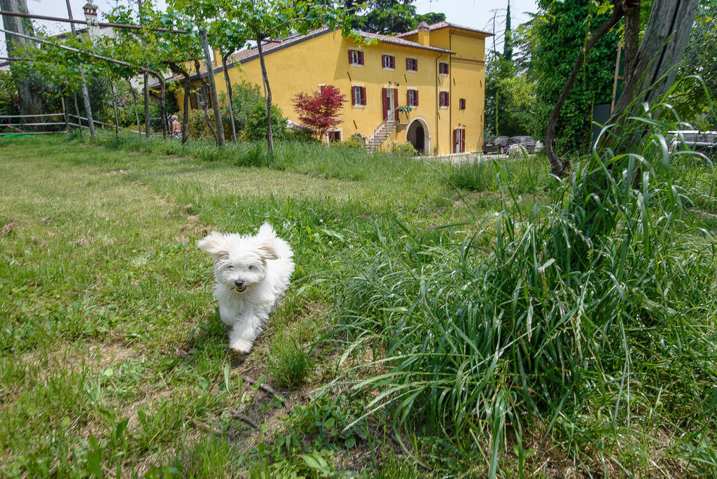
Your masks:
[{"label": "small red-leaved tree in front of the yellow wall", "polygon": [[338,87],[323,85],[312,94],[295,95],[293,101],[300,122],[311,128],[319,141],[328,142],[326,134],[338,125],[338,110],[346,103],[346,95]]}]

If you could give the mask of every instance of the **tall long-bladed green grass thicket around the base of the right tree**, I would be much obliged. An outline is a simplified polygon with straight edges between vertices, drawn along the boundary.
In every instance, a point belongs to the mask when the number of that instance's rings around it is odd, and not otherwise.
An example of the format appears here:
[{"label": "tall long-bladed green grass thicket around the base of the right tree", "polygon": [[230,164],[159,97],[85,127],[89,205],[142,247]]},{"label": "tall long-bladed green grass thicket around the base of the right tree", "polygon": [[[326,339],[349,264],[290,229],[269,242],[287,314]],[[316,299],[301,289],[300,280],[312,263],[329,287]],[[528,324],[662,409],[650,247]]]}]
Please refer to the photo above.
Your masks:
[{"label": "tall long-bladed green grass thicket around the base of the right tree", "polygon": [[[670,153],[675,127],[654,111],[612,142],[648,125],[639,149],[594,151],[547,206],[508,196],[512,212],[505,201],[460,247],[376,227],[380,247],[346,260],[336,303],[348,382],[367,393],[348,427],[378,416],[442,435],[466,463],[483,454],[473,470],[490,476],[551,455],[591,474],[656,473],[668,431],[678,475],[716,470],[696,446],[717,445],[717,258],[703,222],[716,178],[706,158]],[[480,168],[463,170],[478,169],[477,187],[505,173]]]}]

